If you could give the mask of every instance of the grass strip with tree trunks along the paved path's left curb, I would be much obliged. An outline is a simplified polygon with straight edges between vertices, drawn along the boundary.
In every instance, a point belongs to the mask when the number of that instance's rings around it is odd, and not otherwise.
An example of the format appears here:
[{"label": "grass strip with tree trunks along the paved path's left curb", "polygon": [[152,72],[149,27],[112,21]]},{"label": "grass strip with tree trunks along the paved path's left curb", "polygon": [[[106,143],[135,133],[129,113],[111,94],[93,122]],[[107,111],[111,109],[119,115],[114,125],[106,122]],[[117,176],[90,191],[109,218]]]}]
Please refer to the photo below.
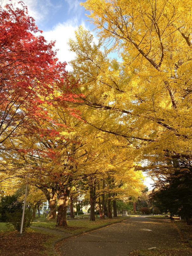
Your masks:
[{"label": "grass strip with tree trunks along the paved path's left curb", "polygon": [[89,219],[69,219],[67,220],[67,227],[56,227],[56,220],[51,219],[39,219],[33,222],[32,227],[45,227],[50,229],[59,229],[64,232],[77,234],[80,232],[86,232],[92,228],[98,228],[105,226],[106,224],[112,224],[129,217],[117,217],[113,219],[96,219],[96,221],[90,221]]}]

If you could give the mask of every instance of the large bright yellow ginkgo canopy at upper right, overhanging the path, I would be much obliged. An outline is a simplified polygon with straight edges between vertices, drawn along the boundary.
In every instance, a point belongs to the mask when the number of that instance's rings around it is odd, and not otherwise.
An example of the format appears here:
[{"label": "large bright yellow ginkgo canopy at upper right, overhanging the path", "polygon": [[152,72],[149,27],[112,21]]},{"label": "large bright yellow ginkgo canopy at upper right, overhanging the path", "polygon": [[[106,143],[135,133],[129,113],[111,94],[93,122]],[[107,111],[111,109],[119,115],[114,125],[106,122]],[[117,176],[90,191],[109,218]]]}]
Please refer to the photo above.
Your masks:
[{"label": "large bright yellow ginkgo canopy at upper right, overhanging the path", "polygon": [[[70,49],[86,121],[126,138],[141,159],[191,161],[191,11],[186,1],[87,0],[96,44],[80,27]],[[116,53],[116,58],[113,58]]]}]

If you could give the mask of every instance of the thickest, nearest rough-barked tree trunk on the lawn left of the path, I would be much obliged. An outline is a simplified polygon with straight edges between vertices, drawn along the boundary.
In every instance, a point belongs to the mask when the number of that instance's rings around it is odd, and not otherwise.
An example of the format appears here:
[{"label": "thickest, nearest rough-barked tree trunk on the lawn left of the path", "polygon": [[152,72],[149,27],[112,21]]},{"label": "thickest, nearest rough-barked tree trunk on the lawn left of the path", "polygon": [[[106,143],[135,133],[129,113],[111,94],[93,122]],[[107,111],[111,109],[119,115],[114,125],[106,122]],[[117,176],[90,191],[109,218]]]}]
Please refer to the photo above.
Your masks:
[{"label": "thickest, nearest rough-barked tree trunk on the lawn left of the path", "polygon": [[67,226],[67,204],[69,200],[70,188],[67,187],[65,190],[60,190],[57,194],[58,199],[58,214],[56,226],[65,227]]}]

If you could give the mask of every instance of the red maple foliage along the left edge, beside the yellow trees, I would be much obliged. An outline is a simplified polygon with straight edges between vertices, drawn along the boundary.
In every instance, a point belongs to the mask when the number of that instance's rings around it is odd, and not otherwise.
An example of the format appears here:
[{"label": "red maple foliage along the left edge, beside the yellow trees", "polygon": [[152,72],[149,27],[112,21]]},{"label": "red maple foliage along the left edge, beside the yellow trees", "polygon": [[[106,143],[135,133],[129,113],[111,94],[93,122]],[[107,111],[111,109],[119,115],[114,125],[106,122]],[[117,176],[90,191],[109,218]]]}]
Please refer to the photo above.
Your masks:
[{"label": "red maple foliage along the left edge, beside the yellow trees", "polygon": [[[58,62],[54,42],[47,43],[28,16],[27,7],[0,7],[0,144],[8,138],[34,132],[47,118],[45,104],[63,104],[77,98],[68,89],[66,63]],[[58,93],[59,92],[59,93]],[[70,113],[72,112],[69,110]]]}]

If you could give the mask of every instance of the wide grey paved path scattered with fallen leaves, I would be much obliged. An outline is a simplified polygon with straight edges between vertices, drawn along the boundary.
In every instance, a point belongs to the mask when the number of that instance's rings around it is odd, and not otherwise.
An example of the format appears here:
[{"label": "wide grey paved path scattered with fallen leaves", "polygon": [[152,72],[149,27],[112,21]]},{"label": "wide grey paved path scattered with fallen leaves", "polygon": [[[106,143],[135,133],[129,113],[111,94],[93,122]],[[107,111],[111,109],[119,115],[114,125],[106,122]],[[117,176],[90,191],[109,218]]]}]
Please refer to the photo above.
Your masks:
[{"label": "wide grey paved path scattered with fallen leaves", "polygon": [[65,239],[59,245],[63,256],[125,256],[133,250],[151,247],[183,247],[182,237],[174,223],[131,217],[121,223]]}]

